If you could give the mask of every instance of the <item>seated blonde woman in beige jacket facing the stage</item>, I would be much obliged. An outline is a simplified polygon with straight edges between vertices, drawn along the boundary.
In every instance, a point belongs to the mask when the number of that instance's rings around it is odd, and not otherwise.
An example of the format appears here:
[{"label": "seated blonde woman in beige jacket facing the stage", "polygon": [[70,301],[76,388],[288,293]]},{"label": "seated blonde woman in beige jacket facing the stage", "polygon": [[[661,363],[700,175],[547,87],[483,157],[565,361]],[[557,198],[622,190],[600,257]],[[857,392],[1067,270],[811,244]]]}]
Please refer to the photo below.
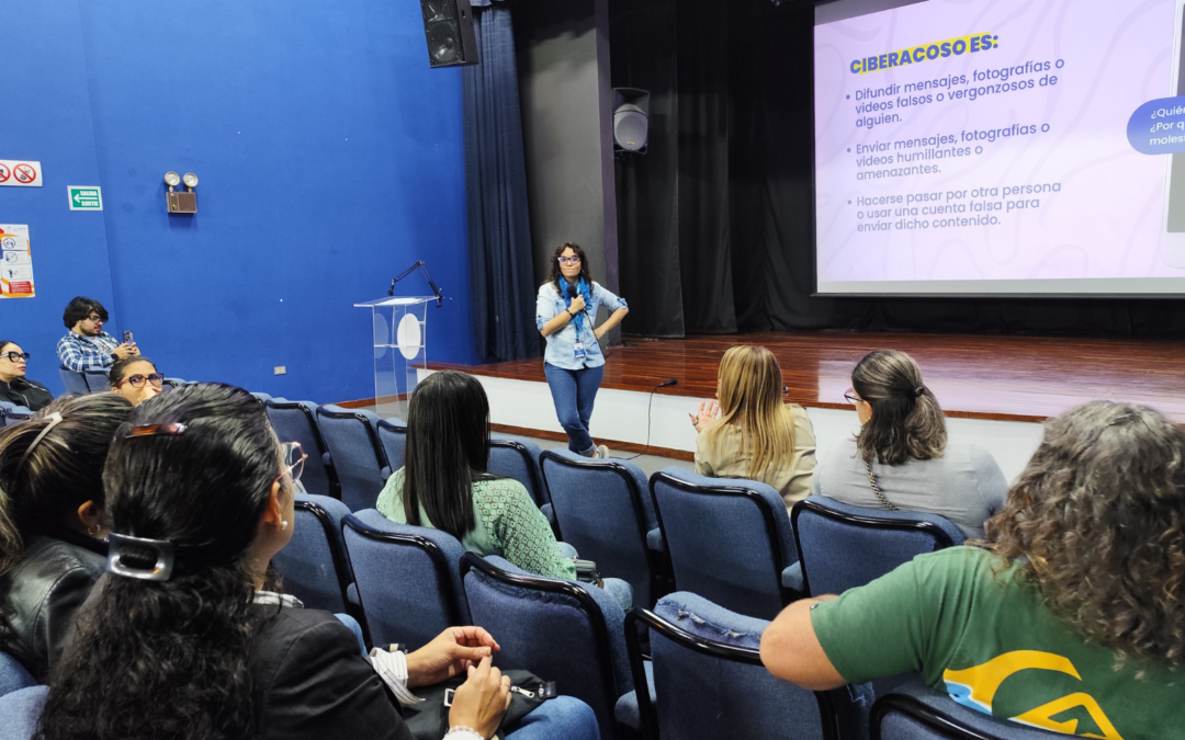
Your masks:
[{"label": "seated blonde woman in beige jacket facing the stage", "polygon": [[719,401],[704,401],[691,423],[696,472],[761,481],[786,507],[807,497],[815,466],[814,429],[806,411],[782,403],[782,368],[764,347],[741,345],[724,353]]}]

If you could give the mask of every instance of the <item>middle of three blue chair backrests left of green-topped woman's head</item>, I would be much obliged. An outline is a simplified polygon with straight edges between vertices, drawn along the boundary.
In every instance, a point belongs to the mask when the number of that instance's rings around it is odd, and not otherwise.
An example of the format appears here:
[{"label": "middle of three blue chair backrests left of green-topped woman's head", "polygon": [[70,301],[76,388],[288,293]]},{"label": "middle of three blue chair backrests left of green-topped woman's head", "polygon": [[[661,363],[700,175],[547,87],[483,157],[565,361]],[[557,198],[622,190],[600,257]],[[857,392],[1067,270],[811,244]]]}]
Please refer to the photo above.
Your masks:
[{"label": "middle of three blue chair backrests left of green-topped woman's head", "polygon": [[318,426],[341,487],[341,501],[353,511],[370,509],[391,475],[378,440],[378,417],[363,408],[321,406]]}]

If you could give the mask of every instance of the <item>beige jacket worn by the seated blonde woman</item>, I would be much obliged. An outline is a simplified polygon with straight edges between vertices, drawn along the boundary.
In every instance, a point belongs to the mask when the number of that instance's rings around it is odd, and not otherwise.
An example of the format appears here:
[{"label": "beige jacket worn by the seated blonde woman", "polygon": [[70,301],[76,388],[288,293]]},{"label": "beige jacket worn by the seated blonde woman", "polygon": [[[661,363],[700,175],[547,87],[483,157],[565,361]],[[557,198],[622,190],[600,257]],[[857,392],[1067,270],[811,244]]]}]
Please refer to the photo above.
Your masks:
[{"label": "beige jacket worn by the seated blonde woman", "polygon": [[[807,412],[798,404],[787,406],[794,416],[794,455],[781,461],[771,476],[761,480],[762,483],[777,489],[786,501],[786,508],[811,495],[811,476],[815,466],[814,426]],[[749,452],[741,449],[741,429],[730,426],[728,433],[709,449],[704,433],[696,438],[696,472],[713,478],[748,478]]]}]

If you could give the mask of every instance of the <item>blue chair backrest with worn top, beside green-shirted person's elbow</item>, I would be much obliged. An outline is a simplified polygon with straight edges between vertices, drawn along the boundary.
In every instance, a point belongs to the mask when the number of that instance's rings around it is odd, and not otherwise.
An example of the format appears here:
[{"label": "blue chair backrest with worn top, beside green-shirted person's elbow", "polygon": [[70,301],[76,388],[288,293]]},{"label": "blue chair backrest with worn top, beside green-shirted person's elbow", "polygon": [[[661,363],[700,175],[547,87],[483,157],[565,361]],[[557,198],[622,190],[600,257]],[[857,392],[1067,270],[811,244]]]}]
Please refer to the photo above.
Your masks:
[{"label": "blue chair backrest with worn top, beside green-shirted person's elbow", "polygon": [[658,738],[834,740],[831,700],[774,677],[761,663],[769,623],[687,592],[626,617],[634,686],[645,686],[639,630],[649,628],[654,697],[638,691],[642,734]]}]

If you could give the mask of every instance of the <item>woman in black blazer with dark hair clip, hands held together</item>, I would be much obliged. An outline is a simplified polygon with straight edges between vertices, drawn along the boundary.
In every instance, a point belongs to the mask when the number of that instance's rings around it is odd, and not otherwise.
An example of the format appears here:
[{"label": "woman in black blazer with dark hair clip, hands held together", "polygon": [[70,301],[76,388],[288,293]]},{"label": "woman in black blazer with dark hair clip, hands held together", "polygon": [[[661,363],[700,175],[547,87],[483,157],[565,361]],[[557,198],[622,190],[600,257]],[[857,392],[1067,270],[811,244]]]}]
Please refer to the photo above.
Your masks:
[{"label": "woman in black blazer with dark hair clip, hands held together", "polygon": [[104,471],[108,573],[38,738],[410,740],[389,690],[402,700],[465,670],[449,738],[493,734],[510,688],[485,630],[406,656],[376,649],[380,678],[348,628],[280,593],[269,561],[292,538],[303,459],[241,388],[188,385],[135,408]]}]

